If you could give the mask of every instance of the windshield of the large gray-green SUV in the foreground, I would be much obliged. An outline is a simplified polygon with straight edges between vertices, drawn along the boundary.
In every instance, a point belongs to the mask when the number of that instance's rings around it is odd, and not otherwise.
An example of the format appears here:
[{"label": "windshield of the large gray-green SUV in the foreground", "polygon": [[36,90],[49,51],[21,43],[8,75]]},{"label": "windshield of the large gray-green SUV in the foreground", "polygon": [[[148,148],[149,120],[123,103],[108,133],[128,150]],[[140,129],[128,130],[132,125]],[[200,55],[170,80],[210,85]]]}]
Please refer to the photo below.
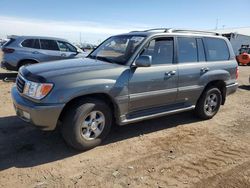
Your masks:
[{"label": "windshield of the large gray-green SUV in the foreground", "polygon": [[107,39],[88,58],[125,65],[145,37],[124,35]]}]

